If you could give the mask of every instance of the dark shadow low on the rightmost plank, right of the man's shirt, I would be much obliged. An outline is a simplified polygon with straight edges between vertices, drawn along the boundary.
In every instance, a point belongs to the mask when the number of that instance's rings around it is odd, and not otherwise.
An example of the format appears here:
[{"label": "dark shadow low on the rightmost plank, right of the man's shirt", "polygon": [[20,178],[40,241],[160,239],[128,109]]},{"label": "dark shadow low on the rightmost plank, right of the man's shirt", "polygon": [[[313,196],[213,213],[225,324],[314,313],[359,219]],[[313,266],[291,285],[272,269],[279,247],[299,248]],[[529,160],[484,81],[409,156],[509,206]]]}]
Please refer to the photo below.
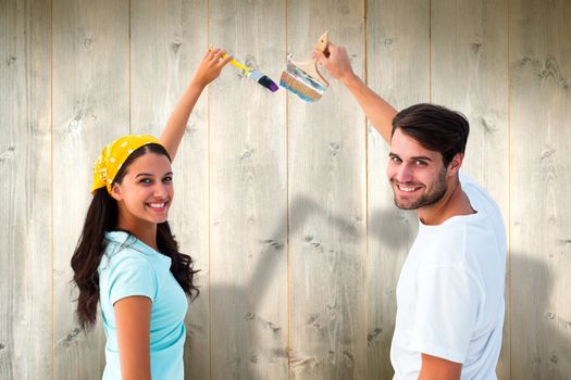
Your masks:
[{"label": "dark shadow low on the rightmost plank, right of the man's shirt", "polygon": [[551,303],[556,280],[545,262],[530,254],[512,253],[512,378],[571,378],[571,320],[569,314],[560,315],[570,308],[560,301]]}]

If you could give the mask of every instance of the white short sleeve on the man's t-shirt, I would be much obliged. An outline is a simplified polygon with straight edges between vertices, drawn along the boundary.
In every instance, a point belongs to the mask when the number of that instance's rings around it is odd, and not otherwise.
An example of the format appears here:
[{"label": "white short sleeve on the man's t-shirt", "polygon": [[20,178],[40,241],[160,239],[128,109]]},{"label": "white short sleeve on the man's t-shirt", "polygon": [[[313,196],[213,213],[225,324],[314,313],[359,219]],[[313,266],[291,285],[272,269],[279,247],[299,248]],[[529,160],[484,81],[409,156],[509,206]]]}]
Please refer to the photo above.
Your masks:
[{"label": "white short sleeve on the man's t-shirt", "polygon": [[477,321],[481,291],[466,269],[436,266],[419,274],[412,349],[464,363]]}]

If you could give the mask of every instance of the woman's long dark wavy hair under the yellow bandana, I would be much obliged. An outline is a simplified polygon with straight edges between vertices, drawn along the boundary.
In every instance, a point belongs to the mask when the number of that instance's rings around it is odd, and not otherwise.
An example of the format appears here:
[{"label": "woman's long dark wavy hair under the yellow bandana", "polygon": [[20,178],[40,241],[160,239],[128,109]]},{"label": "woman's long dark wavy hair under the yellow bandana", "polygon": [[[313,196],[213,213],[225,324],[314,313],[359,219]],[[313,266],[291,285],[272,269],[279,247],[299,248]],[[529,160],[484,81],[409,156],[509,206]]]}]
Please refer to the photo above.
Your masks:
[{"label": "woman's long dark wavy hair under the yellow bandana", "polygon": [[[142,145],[128,156],[116,174],[113,183],[121,183],[129,165],[149,152],[165,155],[171,161],[169,153],[162,145],[157,143]],[[87,211],[82,236],[72,256],[73,282],[79,289],[77,318],[84,330],[91,328],[97,319],[97,304],[99,302],[98,267],[107,245],[104,233],[116,229],[117,214],[117,203],[108,193],[107,188],[97,189]],[[193,269],[190,256],[178,252],[178,243],[174,239],[167,221],[157,225],[157,245],[160,253],[171,257],[171,273],[181,288],[191,299],[196,297],[199,291],[193,280],[198,270]]]}]

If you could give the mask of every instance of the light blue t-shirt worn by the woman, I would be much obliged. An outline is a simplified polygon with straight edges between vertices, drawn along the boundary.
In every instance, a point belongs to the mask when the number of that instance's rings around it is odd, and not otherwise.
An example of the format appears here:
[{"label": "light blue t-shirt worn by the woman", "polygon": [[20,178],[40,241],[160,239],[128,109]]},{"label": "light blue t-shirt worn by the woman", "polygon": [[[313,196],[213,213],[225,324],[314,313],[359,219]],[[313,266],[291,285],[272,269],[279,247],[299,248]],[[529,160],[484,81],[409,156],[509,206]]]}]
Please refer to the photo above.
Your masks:
[{"label": "light blue t-shirt worn by the woman", "polygon": [[150,362],[152,379],[183,379],[183,349],[188,308],[186,295],[170,271],[171,258],[137,238],[105,232],[105,252],[99,264],[99,296],[107,337],[103,380],[121,379],[113,304],[132,295],[152,301]]}]

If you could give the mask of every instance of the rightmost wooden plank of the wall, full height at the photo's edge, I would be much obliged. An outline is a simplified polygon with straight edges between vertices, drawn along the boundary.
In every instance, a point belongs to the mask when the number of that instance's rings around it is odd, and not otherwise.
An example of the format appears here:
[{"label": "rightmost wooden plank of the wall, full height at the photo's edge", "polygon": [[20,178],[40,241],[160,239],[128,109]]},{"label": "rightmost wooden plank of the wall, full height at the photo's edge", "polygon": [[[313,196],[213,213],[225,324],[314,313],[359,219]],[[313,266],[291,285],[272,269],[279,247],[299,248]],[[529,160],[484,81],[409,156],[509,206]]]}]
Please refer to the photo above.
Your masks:
[{"label": "rightmost wooden plank of the wall, full height at the photo's edge", "polygon": [[511,378],[571,375],[571,3],[510,1]]}]

